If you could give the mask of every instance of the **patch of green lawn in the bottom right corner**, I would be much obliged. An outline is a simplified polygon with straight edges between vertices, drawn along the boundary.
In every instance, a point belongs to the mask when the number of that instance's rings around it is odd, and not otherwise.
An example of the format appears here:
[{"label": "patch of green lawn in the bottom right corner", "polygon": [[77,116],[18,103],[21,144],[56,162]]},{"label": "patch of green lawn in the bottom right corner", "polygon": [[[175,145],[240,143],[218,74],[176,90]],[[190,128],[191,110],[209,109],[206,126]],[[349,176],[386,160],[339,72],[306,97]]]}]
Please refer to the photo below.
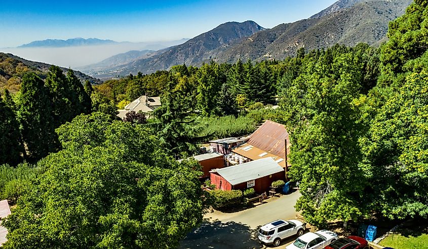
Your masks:
[{"label": "patch of green lawn in the bottom right corner", "polygon": [[393,247],[395,249],[428,249],[428,234],[426,231],[422,233],[421,230],[399,230],[397,234],[386,237],[380,241],[380,245],[386,247]]}]

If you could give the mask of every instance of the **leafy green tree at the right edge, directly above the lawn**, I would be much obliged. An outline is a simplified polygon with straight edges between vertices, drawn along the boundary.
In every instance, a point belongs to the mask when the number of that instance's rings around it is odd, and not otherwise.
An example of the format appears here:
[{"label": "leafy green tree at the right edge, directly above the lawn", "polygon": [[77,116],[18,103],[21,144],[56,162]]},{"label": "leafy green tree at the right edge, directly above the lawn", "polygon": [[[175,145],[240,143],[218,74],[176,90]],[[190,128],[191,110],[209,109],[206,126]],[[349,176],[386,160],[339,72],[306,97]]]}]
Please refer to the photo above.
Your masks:
[{"label": "leafy green tree at the right edge, directly above the lawn", "polygon": [[421,72],[387,99],[361,139],[368,202],[385,217],[428,217],[427,131],[428,73]]}]

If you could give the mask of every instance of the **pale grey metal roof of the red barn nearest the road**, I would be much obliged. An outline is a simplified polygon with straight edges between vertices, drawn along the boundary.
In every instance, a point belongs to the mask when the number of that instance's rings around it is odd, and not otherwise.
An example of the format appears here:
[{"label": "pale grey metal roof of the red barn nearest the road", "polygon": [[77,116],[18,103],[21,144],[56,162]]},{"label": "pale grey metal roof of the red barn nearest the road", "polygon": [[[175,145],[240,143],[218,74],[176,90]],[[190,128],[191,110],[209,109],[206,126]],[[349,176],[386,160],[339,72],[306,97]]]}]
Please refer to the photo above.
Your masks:
[{"label": "pale grey metal roof of the red barn nearest the road", "polygon": [[263,158],[245,164],[213,170],[232,185],[282,172],[284,169],[273,158]]}]

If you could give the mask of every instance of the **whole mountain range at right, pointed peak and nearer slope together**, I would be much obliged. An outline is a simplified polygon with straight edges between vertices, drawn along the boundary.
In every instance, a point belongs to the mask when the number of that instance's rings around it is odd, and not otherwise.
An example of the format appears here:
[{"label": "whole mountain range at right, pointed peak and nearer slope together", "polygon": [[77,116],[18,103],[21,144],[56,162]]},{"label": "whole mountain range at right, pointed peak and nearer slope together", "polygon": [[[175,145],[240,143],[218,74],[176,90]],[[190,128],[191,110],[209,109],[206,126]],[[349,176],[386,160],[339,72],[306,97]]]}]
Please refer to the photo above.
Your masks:
[{"label": "whole mountain range at right, pointed peak and nearer slope together", "polygon": [[388,23],[404,14],[412,0],[339,0],[332,6],[294,23],[265,29],[253,21],[221,24],[187,42],[164,49],[148,58],[93,71],[109,78],[137,72],[152,73],[178,64],[200,66],[214,60],[233,63],[238,59],[283,60],[300,47],[306,51],[336,43],[354,46],[360,42],[379,45],[386,39]]}]

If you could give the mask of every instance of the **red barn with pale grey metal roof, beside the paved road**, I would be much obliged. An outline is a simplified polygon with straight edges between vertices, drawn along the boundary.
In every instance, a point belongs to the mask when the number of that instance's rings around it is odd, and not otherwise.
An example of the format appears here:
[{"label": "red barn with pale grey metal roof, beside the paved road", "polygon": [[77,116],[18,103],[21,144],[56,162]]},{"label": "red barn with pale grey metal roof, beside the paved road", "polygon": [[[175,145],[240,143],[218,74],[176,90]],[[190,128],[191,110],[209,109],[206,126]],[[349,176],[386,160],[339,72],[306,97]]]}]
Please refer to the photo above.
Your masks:
[{"label": "red barn with pale grey metal roof, beside the paved road", "polygon": [[284,169],[273,158],[263,158],[213,170],[210,179],[217,189],[244,190],[252,187],[257,193],[262,193],[269,190],[272,182],[284,179]]}]

